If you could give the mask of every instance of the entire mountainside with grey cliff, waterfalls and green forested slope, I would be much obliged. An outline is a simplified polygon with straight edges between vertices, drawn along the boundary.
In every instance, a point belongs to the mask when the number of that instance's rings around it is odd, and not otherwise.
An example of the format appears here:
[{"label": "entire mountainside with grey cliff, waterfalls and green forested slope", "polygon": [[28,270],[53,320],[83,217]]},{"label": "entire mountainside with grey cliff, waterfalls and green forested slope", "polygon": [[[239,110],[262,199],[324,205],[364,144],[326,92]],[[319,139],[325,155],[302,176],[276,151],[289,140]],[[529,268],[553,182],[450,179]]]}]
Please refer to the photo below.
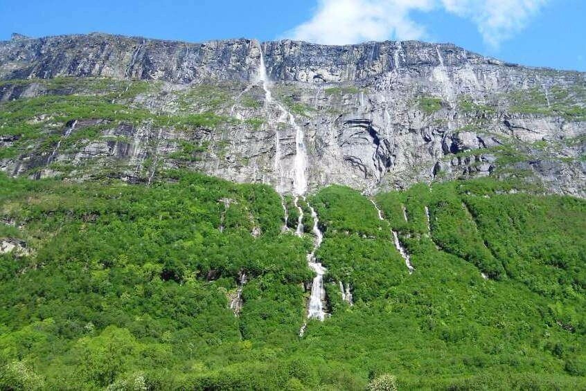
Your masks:
[{"label": "entire mountainside with grey cliff, waterfalls and green forested slope", "polygon": [[586,74],[0,42],[0,390],[586,389]]}]

